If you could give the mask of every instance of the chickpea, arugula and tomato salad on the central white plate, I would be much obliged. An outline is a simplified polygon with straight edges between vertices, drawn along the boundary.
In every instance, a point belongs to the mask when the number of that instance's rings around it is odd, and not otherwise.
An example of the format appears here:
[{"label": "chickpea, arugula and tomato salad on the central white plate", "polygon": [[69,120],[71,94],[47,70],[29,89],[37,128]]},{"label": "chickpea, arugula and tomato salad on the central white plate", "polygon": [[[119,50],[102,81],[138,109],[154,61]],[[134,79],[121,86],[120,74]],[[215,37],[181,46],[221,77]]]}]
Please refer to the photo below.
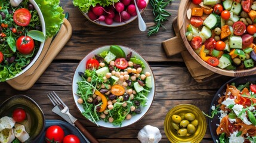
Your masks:
[{"label": "chickpea, arugula and tomato salad on the central white plate", "polygon": [[86,70],[80,71],[82,80],[77,82],[78,103],[83,105],[82,113],[87,119],[122,126],[135,114],[140,114],[151,91],[153,75],[144,71],[140,58],[125,54],[118,45],[98,53],[86,63]]}]

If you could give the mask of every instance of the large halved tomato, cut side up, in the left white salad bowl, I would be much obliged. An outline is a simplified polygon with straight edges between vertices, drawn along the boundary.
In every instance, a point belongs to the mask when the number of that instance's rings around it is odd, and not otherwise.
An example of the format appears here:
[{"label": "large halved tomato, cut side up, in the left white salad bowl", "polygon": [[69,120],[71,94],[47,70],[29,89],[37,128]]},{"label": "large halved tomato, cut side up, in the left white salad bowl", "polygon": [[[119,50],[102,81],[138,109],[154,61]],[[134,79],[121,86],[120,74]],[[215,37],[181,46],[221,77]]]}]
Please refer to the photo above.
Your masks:
[{"label": "large halved tomato, cut side up, in the left white salad bowl", "polygon": [[31,14],[26,8],[20,8],[13,14],[13,20],[18,26],[28,26],[31,19]]}]

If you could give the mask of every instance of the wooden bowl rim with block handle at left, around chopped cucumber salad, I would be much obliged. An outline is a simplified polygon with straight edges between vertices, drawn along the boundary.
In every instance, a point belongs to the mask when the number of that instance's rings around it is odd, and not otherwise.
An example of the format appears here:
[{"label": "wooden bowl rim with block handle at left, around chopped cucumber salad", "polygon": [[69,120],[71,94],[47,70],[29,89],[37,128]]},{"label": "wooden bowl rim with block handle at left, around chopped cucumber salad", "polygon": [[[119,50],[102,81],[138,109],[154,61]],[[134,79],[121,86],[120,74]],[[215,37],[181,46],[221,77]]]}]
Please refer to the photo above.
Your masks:
[{"label": "wooden bowl rim with block handle at left, around chopped cucumber salad", "polygon": [[[219,67],[213,67],[213,66],[210,66],[205,61],[203,61],[201,57],[199,57],[199,55],[196,54],[192,46],[190,46],[189,41],[187,41],[187,37],[186,37],[187,24],[190,23],[189,18],[187,18],[187,10],[189,10],[189,8],[192,8],[192,7],[200,7],[200,6],[193,4],[192,1],[190,0],[184,0],[180,2],[180,7],[178,9],[177,26],[174,27],[174,31],[177,36],[163,42],[166,55],[170,56],[170,55],[178,54],[184,49],[187,49],[187,51],[189,51],[192,57],[195,58],[195,60],[198,61],[199,64],[201,64],[206,69],[213,71],[214,73],[218,73],[224,76],[232,76],[232,77],[249,76],[252,74],[256,74],[256,67],[253,67],[251,69],[238,69],[238,70],[225,70],[225,69],[220,69]],[[186,48],[181,46],[180,43],[183,43],[184,47]]]}]

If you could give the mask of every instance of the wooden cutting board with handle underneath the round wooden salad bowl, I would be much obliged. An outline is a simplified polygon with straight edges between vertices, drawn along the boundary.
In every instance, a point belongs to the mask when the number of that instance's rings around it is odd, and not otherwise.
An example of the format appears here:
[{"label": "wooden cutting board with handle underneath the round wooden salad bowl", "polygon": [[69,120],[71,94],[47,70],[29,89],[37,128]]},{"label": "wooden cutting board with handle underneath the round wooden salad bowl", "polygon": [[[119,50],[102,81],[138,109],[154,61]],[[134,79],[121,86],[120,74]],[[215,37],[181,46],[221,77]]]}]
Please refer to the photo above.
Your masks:
[{"label": "wooden cutting board with handle underneath the round wooden salad bowl", "polygon": [[171,57],[172,55],[181,53],[187,69],[189,70],[191,76],[196,80],[196,82],[206,82],[208,80],[220,77],[220,74],[216,74],[213,71],[206,69],[201,64],[199,64],[198,61],[192,57],[192,55],[189,54],[179,35],[177,17],[175,17],[174,21],[172,21],[172,27],[176,36],[162,42],[166,55]]}]

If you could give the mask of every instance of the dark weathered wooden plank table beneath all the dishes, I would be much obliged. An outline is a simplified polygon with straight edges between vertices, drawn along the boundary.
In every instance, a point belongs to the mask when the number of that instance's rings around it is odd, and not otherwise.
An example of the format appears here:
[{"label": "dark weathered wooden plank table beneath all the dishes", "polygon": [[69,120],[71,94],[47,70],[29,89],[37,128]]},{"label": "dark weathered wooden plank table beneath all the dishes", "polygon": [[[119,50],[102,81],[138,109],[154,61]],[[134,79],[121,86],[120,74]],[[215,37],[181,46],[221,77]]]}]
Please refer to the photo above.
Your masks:
[{"label": "dark weathered wooden plank table beneath all the dishes", "polygon": [[[175,105],[184,103],[196,105],[208,113],[215,92],[232,78],[221,76],[210,82],[197,83],[187,70],[180,54],[166,57],[162,41],[175,36],[172,20],[177,17],[180,1],[172,1],[166,7],[172,15],[164,24],[165,29],[161,28],[156,35],[150,37],[147,36],[147,32],[140,32],[137,19],[122,27],[103,27],[87,20],[78,8],[73,6],[72,1],[62,0],[60,5],[65,13],[69,13],[72,37],[29,90],[17,91],[7,82],[0,83],[0,104],[13,95],[24,94],[39,104],[46,119],[63,120],[51,111],[53,105],[47,98],[48,92],[55,91],[69,106],[70,113],[100,142],[139,142],[137,133],[145,125],[158,127],[162,134],[161,142],[169,142],[164,132],[166,113]],[[148,5],[142,17],[146,23],[153,22],[151,5]],[[79,61],[92,49],[112,44],[128,46],[143,55],[152,67],[156,79],[155,99],[146,116],[134,125],[120,129],[97,127],[88,122],[76,109],[72,97],[72,77]],[[175,50],[175,47],[173,48]],[[202,142],[212,142],[209,128]]]}]

